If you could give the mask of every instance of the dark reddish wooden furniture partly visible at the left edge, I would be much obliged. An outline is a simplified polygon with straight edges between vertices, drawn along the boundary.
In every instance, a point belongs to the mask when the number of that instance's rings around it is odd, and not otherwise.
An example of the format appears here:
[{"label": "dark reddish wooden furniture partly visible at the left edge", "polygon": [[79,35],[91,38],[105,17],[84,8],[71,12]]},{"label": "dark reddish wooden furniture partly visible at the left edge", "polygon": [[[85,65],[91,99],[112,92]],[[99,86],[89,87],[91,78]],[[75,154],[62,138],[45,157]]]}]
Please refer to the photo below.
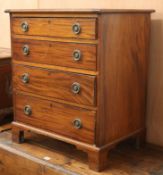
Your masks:
[{"label": "dark reddish wooden furniture partly visible at the left edge", "polygon": [[0,48],[0,123],[12,112],[11,51]]}]

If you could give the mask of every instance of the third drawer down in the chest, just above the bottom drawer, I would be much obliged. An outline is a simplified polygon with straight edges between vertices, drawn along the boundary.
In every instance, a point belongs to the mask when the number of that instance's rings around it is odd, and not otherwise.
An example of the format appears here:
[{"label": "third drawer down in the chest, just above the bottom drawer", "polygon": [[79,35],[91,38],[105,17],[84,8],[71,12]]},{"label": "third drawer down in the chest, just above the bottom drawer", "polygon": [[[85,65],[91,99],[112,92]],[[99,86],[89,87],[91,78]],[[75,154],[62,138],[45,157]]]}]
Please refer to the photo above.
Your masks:
[{"label": "third drawer down in the chest, just above the bottom drawer", "polygon": [[16,90],[53,97],[75,104],[95,105],[95,76],[14,65]]}]

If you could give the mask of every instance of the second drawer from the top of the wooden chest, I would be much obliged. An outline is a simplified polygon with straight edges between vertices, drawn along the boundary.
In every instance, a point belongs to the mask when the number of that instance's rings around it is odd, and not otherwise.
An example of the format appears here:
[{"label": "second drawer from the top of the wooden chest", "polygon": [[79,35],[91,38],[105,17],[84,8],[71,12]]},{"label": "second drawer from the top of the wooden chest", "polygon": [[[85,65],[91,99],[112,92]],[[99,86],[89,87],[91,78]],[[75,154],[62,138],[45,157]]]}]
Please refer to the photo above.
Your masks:
[{"label": "second drawer from the top of the wooden chest", "polygon": [[96,70],[96,45],[13,39],[18,61]]}]

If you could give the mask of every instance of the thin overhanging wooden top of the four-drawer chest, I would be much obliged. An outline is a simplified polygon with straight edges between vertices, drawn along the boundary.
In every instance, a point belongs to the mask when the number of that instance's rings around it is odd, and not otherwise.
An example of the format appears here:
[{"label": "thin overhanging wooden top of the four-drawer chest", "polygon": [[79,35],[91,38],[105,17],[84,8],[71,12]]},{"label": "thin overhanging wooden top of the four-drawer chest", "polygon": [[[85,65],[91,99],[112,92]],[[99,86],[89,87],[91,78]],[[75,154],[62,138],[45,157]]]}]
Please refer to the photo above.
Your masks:
[{"label": "thin overhanging wooden top of the four-drawer chest", "polygon": [[8,9],[7,13],[152,13],[152,9]]}]

